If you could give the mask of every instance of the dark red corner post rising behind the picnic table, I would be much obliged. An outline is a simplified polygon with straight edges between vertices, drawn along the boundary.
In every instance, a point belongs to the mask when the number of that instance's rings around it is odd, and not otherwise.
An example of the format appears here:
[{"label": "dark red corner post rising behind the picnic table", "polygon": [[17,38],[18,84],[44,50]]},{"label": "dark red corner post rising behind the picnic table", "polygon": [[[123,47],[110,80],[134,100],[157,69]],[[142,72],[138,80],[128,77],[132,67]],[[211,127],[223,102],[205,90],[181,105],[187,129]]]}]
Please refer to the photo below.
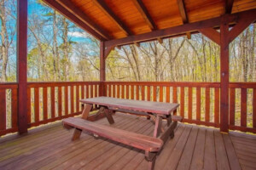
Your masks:
[{"label": "dark red corner post rising behind the picnic table", "polygon": [[100,44],[100,96],[106,96],[106,88],[104,82],[106,81],[106,58],[105,58],[105,43]]}]

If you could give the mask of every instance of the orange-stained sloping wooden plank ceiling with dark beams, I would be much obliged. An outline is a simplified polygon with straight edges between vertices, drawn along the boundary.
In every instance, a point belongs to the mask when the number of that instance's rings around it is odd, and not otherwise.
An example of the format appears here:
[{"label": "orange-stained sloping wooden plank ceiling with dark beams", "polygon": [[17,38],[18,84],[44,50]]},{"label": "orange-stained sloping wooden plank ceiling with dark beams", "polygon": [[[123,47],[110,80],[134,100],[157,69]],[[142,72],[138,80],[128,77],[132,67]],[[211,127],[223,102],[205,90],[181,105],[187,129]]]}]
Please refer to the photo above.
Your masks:
[{"label": "orange-stained sloping wooden plank ceiling with dark beams", "polygon": [[102,41],[256,8],[255,0],[44,0],[44,2]]}]

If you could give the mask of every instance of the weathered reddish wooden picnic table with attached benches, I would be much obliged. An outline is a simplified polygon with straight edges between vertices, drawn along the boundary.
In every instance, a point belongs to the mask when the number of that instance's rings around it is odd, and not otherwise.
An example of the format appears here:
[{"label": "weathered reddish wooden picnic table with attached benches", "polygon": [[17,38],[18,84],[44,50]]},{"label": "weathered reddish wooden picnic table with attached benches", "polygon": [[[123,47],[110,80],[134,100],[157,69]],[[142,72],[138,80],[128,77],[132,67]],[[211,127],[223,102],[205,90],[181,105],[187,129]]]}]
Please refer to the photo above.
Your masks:
[{"label": "weathered reddish wooden picnic table with attached benches", "polygon": [[[174,129],[177,121],[181,122],[181,116],[173,116],[172,112],[177,110],[178,104],[160,103],[151,101],[138,101],[132,99],[114,99],[109,97],[97,97],[81,99],[84,110],[81,117],[69,117],[63,120],[63,126],[75,128],[73,140],[79,139],[82,131],[101,136],[106,139],[127,144],[140,150],[145,150],[145,158],[148,161],[148,169],[154,169],[154,162],[163,144],[171,136],[174,137]],[[127,112],[140,116],[148,116],[154,122],[153,137],[132,133],[115,127],[101,125],[86,120],[92,109],[92,105],[100,105],[96,116],[104,114],[110,124],[114,123],[113,113],[115,111]],[[162,120],[166,119],[166,127],[162,126]]]}]

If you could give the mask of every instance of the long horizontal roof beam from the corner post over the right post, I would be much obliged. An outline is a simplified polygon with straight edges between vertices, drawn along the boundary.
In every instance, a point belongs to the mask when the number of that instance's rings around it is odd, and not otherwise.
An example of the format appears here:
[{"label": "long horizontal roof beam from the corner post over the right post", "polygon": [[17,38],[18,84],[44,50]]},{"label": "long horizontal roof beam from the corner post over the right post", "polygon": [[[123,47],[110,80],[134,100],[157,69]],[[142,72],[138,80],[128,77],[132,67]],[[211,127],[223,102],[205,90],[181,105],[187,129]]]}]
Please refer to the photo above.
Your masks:
[{"label": "long horizontal roof beam from the corner post over the right post", "polygon": [[[248,15],[256,15],[256,9],[247,10],[244,12],[236,13],[236,14],[226,14],[226,20],[230,24],[236,23],[239,18],[246,19]],[[157,39],[158,37],[171,37],[178,34],[184,34],[186,32],[194,32],[200,29],[209,28],[209,27],[218,27],[220,26],[221,16],[208,19],[201,20],[194,23],[184,24],[182,26],[174,26],[171,28],[166,28],[162,30],[151,31],[139,35],[119,38],[115,40],[106,41],[106,47],[109,46],[118,46],[118,45],[126,45],[131,44],[133,42],[147,42]]]}]

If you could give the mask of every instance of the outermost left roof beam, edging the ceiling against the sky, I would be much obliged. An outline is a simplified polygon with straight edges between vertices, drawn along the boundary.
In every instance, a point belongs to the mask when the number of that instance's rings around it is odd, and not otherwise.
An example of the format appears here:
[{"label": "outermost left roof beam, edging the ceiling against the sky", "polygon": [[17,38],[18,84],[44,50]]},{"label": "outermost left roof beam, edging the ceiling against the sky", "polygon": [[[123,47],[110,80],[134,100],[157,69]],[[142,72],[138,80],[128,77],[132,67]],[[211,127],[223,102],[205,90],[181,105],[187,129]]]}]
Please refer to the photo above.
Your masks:
[{"label": "outermost left roof beam, edging the ceiling against the sky", "polygon": [[84,31],[87,31],[95,37],[98,40],[106,41],[106,38],[99,35],[96,31],[90,28],[87,24],[84,23],[84,21],[79,20],[78,17],[76,17],[74,14],[70,13],[66,8],[63,8],[60,3],[57,3],[53,0],[44,0],[44,3],[49,5],[49,7],[54,8],[56,11],[58,11],[60,14],[63,14],[68,20],[73,21],[77,26],[82,28]]}]

